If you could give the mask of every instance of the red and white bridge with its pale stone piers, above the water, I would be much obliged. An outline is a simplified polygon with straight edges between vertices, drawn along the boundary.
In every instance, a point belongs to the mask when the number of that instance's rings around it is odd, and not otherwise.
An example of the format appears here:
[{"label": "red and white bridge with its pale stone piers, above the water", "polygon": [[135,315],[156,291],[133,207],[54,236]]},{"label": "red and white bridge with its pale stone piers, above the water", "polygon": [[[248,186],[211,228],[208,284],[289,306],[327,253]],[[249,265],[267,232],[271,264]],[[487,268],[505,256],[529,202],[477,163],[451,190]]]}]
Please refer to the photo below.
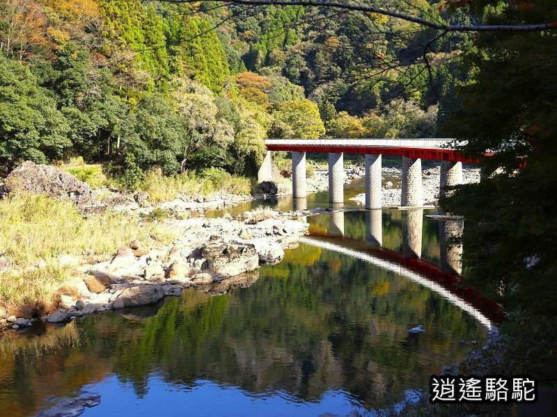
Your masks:
[{"label": "red and white bridge with its pale stone piers, above the water", "polygon": [[422,159],[441,161],[441,195],[447,186],[462,182],[462,162],[477,163],[455,149],[448,149],[450,139],[271,139],[265,141],[267,154],[258,179],[271,172],[270,151],[292,152],[292,194],[307,195],[306,152],[329,153],[329,202],[343,202],[344,154],[366,156],[366,208],[382,208],[382,155],[402,156],[401,205],[423,206]]}]

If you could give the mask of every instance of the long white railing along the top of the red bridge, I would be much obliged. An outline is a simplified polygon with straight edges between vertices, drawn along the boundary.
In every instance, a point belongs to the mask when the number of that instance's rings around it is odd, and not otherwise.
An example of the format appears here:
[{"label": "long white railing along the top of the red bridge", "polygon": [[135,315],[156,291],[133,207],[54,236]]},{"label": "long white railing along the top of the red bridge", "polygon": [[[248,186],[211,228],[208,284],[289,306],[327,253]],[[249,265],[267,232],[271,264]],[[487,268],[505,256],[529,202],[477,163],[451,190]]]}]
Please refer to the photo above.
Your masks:
[{"label": "long white railing along the top of the red bridge", "polygon": [[267,139],[265,145],[307,145],[307,146],[354,146],[354,147],[412,147],[425,149],[448,149],[453,139],[448,138],[420,138],[420,139]]}]

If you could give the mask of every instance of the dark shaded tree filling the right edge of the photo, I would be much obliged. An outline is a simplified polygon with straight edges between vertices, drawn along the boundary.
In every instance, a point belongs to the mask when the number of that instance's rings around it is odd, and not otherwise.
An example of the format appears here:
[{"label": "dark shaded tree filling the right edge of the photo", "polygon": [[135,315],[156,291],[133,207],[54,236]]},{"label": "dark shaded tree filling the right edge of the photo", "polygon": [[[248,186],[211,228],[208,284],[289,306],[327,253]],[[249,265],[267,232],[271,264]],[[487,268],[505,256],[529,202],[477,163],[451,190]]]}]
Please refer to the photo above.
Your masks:
[{"label": "dark shaded tree filling the right edge of the photo", "polygon": [[[485,13],[488,23],[557,15],[551,0],[481,3],[487,7],[464,10]],[[517,336],[513,370],[555,383],[557,32],[482,33],[474,44],[464,56],[469,82],[457,89],[444,133],[466,140],[462,152],[479,159],[484,176],[443,204],[466,216],[466,279],[519,312],[503,326]]]}]

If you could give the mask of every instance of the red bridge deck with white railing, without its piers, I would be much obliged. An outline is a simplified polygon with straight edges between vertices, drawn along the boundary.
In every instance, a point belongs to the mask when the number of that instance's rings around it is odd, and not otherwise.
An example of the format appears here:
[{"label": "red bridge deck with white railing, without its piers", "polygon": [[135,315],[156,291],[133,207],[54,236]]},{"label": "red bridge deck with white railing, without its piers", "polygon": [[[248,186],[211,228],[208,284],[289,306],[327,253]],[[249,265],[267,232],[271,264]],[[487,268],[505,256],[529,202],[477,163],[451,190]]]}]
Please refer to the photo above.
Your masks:
[{"label": "red bridge deck with white railing, without its piers", "polygon": [[269,139],[269,151],[381,154],[438,161],[476,163],[450,149],[452,139]]}]

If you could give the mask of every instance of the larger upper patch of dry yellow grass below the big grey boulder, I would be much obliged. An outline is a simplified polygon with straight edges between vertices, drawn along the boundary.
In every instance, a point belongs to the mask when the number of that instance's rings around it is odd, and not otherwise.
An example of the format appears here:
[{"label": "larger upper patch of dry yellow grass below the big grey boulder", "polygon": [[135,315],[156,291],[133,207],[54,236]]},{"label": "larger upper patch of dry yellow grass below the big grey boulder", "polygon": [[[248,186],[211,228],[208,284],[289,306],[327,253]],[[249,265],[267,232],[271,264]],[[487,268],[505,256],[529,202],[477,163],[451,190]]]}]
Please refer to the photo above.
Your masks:
[{"label": "larger upper patch of dry yellow grass below the big grey boulder", "polygon": [[0,202],[0,253],[19,265],[60,254],[99,256],[133,239],[152,243],[172,234],[154,222],[109,211],[84,218],[70,202],[20,195]]}]

